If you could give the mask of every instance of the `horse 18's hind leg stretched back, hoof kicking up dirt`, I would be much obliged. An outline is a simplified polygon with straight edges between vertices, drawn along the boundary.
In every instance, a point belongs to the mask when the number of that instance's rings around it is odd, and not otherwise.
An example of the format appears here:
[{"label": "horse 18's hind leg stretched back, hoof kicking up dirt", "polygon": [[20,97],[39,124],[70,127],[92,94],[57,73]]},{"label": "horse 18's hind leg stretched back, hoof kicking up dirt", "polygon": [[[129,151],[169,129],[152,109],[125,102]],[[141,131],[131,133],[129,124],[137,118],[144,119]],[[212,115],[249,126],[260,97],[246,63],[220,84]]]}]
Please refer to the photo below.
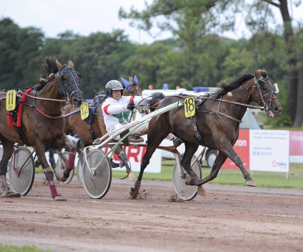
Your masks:
[{"label": "horse 18's hind leg stretched back, hoof kicking up dirt", "polygon": [[148,131],[148,135],[147,135],[148,144],[147,144],[146,152],[142,158],[142,163],[140,166],[140,173],[139,173],[138,179],[135,182],[135,187],[132,187],[131,191],[129,193],[133,199],[135,199],[139,194],[139,189],[141,186],[141,180],[142,180],[142,176],[143,176],[145,167],[149,164],[149,160],[150,160],[152,154],[155,152],[156,148],[158,148],[159,144],[162,142],[162,140],[166,136],[167,136],[167,133],[165,134],[164,130],[159,132],[157,128],[155,130],[153,130],[152,127],[150,127],[150,129]]}]

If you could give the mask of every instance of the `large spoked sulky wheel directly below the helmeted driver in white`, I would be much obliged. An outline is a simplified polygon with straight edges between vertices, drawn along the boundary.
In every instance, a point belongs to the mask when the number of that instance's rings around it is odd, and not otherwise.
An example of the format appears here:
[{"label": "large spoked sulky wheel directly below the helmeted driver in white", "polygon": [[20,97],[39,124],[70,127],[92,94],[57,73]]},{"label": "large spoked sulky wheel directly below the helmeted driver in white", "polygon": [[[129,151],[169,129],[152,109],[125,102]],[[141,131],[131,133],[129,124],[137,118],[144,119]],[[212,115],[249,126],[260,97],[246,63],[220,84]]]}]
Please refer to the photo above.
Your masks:
[{"label": "large spoked sulky wheel directly below the helmeted driver in white", "polygon": [[[89,167],[95,167],[105,157],[105,152],[99,149],[92,150],[87,155]],[[101,199],[104,197],[112,183],[112,166],[109,158],[99,165],[95,174],[92,175],[84,161],[82,167],[82,182],[89,197]]]}]

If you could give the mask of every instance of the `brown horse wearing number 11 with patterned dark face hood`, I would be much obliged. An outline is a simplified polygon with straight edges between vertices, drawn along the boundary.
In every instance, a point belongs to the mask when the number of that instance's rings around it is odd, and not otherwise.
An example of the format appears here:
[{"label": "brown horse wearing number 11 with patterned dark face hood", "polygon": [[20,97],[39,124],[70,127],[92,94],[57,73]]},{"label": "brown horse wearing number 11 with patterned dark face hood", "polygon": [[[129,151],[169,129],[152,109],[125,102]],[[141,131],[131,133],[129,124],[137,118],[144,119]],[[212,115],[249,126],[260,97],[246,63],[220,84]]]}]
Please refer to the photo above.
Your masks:
[{"label": "brown horse wearing number 11 with patterned dark face hood", "polygon": [[[57,193],[54,185],[54,176],[45,158],[45,146],[52,144],[55,146],[68,146],[70,148],[70,165],[65,169],[61,177],[61,180],[65,181],[74,165],[72,161],[74,161],[76,146],[63,132],[64,118],[61,116],[62,101],[60,100],[65,97],[73,107],[81,105],[81,75],[73,69],[74,65],[71,60],[68,61],[68,65],[61,65],[55,57],[46,57],[43,66],[49,77],[45,81],[44,79],[40,79],[42,82],[35,85],[29,93],[29,95],[35,98],[26,96],[22,112],[22,131],[24,132],[25,139],[35,149],[39,162],[43,167],[45,177],[48,180],[52,198],[59,200],[62,199],[62,196]],[[57,101],[49,99],[56,99]],[[7,196],[8,187],[5,174],[8,160],[12,156],[14,143],[23,144],[23,142],[16,128],[8,126],[5,104],[0,106],[0,114],[0,140],[4,151],[0,163],[0,175],[2,196]]]}]

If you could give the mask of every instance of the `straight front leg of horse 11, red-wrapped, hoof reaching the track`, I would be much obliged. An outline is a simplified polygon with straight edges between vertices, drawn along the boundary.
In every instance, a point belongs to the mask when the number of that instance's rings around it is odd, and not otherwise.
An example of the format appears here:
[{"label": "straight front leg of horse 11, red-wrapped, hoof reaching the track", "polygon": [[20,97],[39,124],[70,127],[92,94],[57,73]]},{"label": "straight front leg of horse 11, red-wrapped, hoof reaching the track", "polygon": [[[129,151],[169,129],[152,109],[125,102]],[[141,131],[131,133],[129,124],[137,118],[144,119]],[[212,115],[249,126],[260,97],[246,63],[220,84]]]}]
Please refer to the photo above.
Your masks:
[{"label": "straight front leg of horse 11, red-wrapped, hoof reaching the track", "polygon": [[45,157],[45,146],[42,142],[35,142],[33,148],[36,151],[37,157],[39,159],[40,164],[43,168],[43,173],[45,174],[46,180],[48,181],[49,189],[51,190],[52,198],[56,201],[63,201],[62,195],[58,194],[56,186],[54,184],[54,174],[49,167],[47,159]]}]

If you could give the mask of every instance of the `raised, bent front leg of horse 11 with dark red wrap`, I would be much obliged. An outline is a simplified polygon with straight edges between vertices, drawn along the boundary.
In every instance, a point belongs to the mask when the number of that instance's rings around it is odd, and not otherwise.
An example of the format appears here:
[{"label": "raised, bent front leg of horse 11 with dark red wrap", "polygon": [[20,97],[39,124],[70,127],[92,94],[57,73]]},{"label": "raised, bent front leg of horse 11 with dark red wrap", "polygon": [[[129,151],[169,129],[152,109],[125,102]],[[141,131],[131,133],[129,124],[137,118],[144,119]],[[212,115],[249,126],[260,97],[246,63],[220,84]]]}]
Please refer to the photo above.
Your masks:
[{"label": "raised, bent front leg of horse 11 with dark red wrap", "polygon": [[52,145],[69,147],[69,156],[68,156],[66,169],[63,171],[63,174],[60,175],[60,181],[65,182],[68,179],[70,172],[75,167],[75,157],[76,157],[76,152],[77,152],[77,145],[74,141],[69,139],[66,136],[66,134],[63,132],[61,135],[54,138],[54,140],[52,141]]}]

